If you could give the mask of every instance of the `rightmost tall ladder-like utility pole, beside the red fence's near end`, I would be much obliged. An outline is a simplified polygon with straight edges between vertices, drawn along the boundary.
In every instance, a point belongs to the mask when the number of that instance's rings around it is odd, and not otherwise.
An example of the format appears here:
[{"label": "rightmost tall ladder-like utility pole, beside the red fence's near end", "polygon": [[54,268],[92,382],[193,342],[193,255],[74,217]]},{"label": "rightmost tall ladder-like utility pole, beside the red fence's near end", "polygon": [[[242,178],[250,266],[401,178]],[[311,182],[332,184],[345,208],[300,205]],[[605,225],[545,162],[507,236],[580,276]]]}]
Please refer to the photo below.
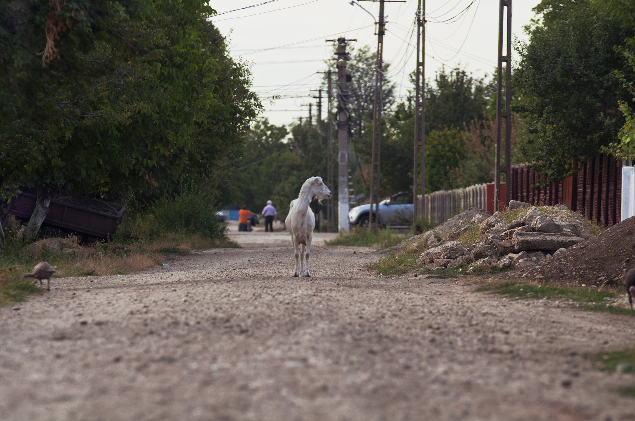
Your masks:
[{"label": "rightmost tall ladder-like utility pole, beside the red fence's near end", "polygon": [[[511,198],[511,161],[512,161],[512,0],[500,0],[498,8],[498,74],[496,89],[496,153],[494,166],[494,212],[498,210],[500,201],[500,173],[505,173],[505,207],[509,205]],[[505,10],[506,8],[506,10]],[[505,16],[506,13],[506,16]],[[506,21],[506,22],[505,22]],[[505,25],[505,23],[507,23]],[[507,54],[503,55],[503,32],[507,27],[505,49]],[[503,86],[503,62],[505,62],[505,110],[501,110],[502,86]],[[505,166],[500,167],[500,126],[502,119],[505,119]]]}]

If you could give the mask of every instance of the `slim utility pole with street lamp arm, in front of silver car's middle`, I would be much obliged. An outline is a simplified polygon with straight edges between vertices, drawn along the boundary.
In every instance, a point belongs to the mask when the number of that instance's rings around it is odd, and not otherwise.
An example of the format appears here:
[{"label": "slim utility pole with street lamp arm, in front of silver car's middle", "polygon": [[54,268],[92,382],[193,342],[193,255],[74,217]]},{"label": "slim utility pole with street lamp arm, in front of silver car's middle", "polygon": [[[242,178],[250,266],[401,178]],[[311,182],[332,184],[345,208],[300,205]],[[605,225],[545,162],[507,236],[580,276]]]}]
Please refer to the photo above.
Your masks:
[{"label": "slim utility pole with street lamp arm, in front of silver car's middle", "polygon": [[[368,228],[373,225],[373,199],[375,202],[375,225],[379,228],[379,200],[380,200],[380,157],[382,150],[382,83],[384,81],[384,34],[386,22],[384,20],[384,3],[406,3],[406,0],[358,0],[379,1],[379,20],[377,23],[377,63],[375,64],[375,98],[373,100],[373,145],[370,154],[370,216]],[[377,175],[377,188],[375,190],[375,175]]]}]

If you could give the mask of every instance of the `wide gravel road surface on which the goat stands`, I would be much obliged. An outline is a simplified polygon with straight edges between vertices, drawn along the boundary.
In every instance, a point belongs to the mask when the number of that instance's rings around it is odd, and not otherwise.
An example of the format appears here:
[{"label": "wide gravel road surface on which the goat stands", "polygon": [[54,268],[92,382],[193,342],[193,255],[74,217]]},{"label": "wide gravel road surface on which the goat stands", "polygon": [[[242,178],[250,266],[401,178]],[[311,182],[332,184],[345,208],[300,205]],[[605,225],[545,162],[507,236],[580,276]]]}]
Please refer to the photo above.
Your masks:
[{"label": "wide gravel road surface on which the goat stands", "polygon": [[584,357],[632,347],[631,318],[374,277],[371,251],[313,247],[313,278],[286,247],[56,278],[0,309],[0,418],[635,419],[633,376]]}]

